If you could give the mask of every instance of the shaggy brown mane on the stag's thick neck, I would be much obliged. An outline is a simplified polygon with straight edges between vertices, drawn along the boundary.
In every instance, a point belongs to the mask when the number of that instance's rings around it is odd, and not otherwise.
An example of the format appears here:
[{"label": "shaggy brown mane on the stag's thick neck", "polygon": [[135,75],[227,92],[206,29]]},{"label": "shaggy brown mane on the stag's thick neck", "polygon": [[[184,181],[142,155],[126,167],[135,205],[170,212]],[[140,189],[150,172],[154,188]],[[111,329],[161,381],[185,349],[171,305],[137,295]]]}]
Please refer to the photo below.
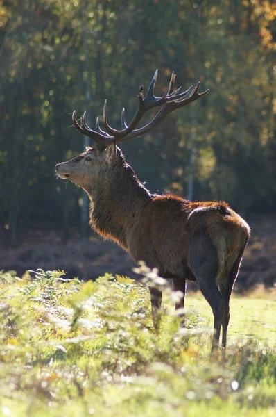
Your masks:
[{"label": "shaggy brown mane on the stag's thick neck", "polygon": [[123,156],[106,177],[89,193],[89,223],[103,238],[114,240],[126,250],[126,232],[136,224],[152,196]]}]

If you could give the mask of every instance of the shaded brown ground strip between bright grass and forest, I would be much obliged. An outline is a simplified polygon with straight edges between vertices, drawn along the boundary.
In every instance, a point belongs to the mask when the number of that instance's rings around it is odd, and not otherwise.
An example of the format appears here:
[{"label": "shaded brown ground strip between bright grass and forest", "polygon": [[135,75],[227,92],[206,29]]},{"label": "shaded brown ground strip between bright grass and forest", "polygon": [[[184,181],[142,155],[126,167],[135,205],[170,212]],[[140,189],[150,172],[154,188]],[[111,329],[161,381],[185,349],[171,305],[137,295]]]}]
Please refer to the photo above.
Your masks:
[{"label": "shaded brown ground strip between bright grass and forest", "polygon": [[[252,235],[245,249],[236,281],[236,291],[264,284],[276,285],[276,216],[256,216],[249,221]],[[128,254],[112,242],[104,241],[90,232],[86,239],[71,230],[71,237],[62,232],[32,229],[21,233],[17,247],[8,246],[8,231],[0,231],[0,270],[15,270],[23,275],[26,270],[65,270],[67,277],[96,279],[110,272],[135,278],[135,265]]]}]

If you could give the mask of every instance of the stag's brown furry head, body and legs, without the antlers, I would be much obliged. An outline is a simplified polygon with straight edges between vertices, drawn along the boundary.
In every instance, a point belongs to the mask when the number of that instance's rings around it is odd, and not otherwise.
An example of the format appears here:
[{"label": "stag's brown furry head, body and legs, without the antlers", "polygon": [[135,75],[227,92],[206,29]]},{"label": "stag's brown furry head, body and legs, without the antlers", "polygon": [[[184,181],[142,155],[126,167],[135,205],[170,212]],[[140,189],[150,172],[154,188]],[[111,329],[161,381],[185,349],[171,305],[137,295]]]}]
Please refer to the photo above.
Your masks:
[{"label": "stag's brown furry head, body and legs, without the antlers", "polygon": [[[92,162],[85,162],[87,156]],[[198,282],[214,313],[213,347],[221,325],[225,347],[229,299],[250,236],[248,224],[225,202],[150,194],[118,147],[88,148],[57,165],[57,172],[87,191],[90,224],[103,238],[114,240],[134,261],[158,268],[183,293],[187,280]],[[151,299],[154,311],[161,293],[151,290]]]}]

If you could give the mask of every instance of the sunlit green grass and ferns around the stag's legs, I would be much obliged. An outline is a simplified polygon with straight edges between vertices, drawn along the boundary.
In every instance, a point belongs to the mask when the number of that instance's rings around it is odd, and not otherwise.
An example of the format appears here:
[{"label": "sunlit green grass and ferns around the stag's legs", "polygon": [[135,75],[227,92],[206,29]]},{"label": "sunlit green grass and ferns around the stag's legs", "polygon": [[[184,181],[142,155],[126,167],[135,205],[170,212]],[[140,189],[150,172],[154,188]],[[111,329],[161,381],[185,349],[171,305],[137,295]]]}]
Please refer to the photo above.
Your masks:
[{"label": "sunlit green grass and ferns around the stag's legs", "polygon": [[227,353],[210,357],[199,293],[180,329],[165,288],[156,333],[145,286],[64,277],[0,274],[0,416],[276,415],[275,293],[232,297]]}]

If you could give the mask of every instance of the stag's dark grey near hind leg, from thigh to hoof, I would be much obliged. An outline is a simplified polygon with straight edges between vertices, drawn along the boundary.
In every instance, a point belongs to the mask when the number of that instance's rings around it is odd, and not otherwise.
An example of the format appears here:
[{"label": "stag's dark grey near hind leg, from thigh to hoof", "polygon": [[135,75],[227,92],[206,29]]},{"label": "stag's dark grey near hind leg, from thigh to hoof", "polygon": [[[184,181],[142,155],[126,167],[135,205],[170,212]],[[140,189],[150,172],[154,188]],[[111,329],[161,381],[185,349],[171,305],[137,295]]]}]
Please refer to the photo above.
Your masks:
[{"label": "stag's dark grey near hind leg, from thigh to hoof", "polygon": [[216,275],[218,273],[216,247],[206,233],[201,232],[193,236],[189,249],[189,266],[214,314],[213,352],[218,347],[223,313],[225,311],[225,300],[216,284]]}]

